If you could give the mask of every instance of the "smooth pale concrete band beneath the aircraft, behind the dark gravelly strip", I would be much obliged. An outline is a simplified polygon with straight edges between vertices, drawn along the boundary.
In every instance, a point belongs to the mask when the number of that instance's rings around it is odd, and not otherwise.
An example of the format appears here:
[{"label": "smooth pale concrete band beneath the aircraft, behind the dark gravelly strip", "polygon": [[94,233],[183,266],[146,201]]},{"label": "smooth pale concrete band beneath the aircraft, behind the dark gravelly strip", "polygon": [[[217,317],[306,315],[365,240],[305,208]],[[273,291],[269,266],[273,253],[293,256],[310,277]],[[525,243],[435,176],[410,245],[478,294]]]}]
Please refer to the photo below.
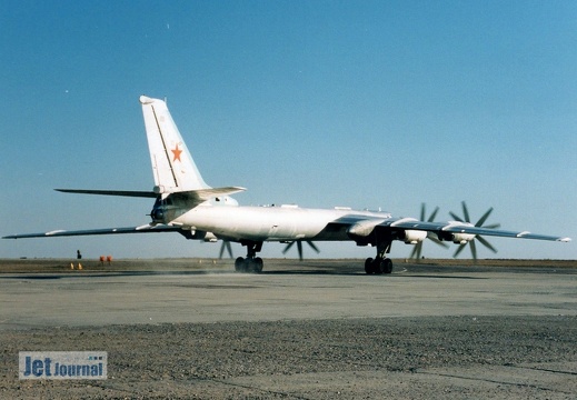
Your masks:
[{"label": "smooth pale concrete band beneath the aircraft, behind the dark gravelly strip", "polygon": [[169,262],[136,271],[0,274],[0,329],[577,314],[575,269],[401,263],[390,276],[366,276],[359,260],[269,263],[262,274],[228,272],[226,264],[171,269]]}]

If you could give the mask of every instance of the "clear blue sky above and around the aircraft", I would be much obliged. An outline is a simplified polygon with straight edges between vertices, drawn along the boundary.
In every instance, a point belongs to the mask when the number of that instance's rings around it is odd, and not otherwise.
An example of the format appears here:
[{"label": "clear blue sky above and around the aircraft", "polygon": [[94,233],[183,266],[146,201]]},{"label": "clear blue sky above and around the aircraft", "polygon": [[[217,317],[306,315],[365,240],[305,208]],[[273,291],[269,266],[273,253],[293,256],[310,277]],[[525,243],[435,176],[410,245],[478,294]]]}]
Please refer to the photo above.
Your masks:
[{"label": "clear blue sky above and around the aircraft", "polygon": [[[149,200],[52,190],[152,188],[145,93],[168,99],[209,184],[249,189],[243,204],[418,217],[426,202],[441,220],[465,200],[475,220],[493,206],[488,223],[575,239],[576,48],[574,1],[2,1],[0,234],[147,223]],[[499,258],[577,258],[575,242],[490,242]],[[455,249],[426,244],[427,257]],[[216,257],[219,246],[2,240],[0,258]],[[411,249],[396,242],[391,256]]]}]

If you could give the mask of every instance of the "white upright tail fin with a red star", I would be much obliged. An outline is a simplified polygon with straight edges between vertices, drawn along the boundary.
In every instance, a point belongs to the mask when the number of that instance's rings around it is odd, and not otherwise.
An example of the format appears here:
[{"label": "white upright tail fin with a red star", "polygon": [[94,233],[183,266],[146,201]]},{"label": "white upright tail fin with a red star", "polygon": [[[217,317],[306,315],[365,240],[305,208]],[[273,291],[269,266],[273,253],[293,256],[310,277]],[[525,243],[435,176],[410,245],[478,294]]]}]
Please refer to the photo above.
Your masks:
[{"label": "white upright tail fin with a red star", "polygon": [[210,189],[198,171],[165,101],[140,97],[157,193]]}]

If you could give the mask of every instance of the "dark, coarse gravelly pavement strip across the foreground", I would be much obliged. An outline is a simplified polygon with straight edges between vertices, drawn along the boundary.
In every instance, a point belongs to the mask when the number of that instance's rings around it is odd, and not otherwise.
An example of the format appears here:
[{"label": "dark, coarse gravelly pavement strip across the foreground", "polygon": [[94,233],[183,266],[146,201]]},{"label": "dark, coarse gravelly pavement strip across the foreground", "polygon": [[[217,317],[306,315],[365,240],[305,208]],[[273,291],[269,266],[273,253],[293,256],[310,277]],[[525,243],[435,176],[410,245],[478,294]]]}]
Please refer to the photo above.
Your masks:
[{"label": "dark, coarse gravelly pavement strip across the foreground", "polygon": [[[0,331],[2,399],[577,398],[577,317]],[[18,379],[19,351],[108,351],[108,379]]]}]

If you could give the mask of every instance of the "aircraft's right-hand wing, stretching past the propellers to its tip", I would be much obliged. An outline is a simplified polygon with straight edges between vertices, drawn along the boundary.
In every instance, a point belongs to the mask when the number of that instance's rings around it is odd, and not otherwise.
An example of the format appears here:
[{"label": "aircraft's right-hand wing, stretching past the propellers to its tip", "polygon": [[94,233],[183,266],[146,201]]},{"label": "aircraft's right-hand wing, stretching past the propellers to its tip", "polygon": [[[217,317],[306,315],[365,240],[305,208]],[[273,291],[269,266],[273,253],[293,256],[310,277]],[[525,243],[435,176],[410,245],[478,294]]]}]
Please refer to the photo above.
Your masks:
[{"label": "aircraft's right-hand wing, stretching past the propellers to its tip", "polygon": [[427,232],[435,232],[442,234],[446,233],[466,233],[466,234],[479,234],[479,236],[494,236],[494,237],[503,237],[503,238],[518,238],[518,239],[536,239],[536,240],[549,240],[549,241],[560,241],[560,242],[569,242],[570,238],[558,237],[558,236],[549,236],[549,234],[540,234],[540,233],[531,233],[528,231],[508,231],[500,229],[489,229],[483,227],[475,227],[472,224],[467,224],[458,221],[449,221],[449,222],[426,222],[418,221],[410,218],[402,218],[398,220],[387,220],[380,222],[379,227],[386,228],[399,228],[399,229],[408,229],[408,230],[420,230]]}]

